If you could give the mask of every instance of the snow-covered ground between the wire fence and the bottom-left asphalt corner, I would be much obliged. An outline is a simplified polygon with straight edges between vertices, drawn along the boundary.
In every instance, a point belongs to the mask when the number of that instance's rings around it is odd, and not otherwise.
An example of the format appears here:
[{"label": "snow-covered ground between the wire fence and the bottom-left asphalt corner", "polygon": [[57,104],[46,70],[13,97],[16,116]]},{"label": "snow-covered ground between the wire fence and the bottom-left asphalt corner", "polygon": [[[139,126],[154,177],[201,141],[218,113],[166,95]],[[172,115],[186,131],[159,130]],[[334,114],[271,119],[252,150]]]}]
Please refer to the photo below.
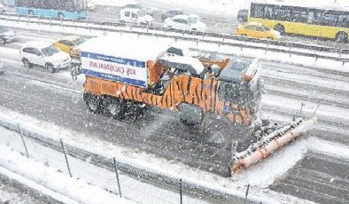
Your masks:
[{"label": "snow-covered ground between the wire fence and the bottom-left asphalt corner", "polygon": [[[0,128],[0,132],[0,137],[6,137],[6,135],[9,137],[11,134],[3,128]],[[13,137],[13,134],[10,136]],[[48,167],[48,164],[27,159],[18,150],[13,150],[13,146],[6,146],[4,142],[0,143],[0,146],[1,174],[48,194],[56,200],[64,203],[134,203],[87,184],[82,179],[59,173],[58,169]]]}]

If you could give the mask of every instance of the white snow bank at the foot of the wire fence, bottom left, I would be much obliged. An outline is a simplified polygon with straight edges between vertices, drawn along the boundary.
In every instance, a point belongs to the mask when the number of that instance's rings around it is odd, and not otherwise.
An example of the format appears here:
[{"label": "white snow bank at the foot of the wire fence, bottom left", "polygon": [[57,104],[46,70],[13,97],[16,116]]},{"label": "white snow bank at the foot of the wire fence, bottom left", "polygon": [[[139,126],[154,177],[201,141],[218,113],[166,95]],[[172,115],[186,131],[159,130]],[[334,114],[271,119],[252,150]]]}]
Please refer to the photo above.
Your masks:
[{"label": "white snow bank at the foot of the wire fence, bottom left", "polygon": [[[70,178],[66,174],[58,173],[57,169],[46,167],[43,163],[27,159],[18,152],[12,151],[4,144],[0,144],[0,166],[11,170],[22,177],[42,184],[53,192],[59,192],[66,195],[69,199],[62,200],[71,203],[76,200],[81,203],[133,203],[129,200],[120,199],[119,196],[105,192],[96,186],[86,184],[84,181]],[[4,172],[4,170],[0,171]],[[19,177],[17,177],[19,178]],[[23,182],[23,179],[19,179]],[[28,182],[26,182],[29,184]],[[34,186],[30,184],[30,186]],[[47,191],[46,191],[47,192]],[[53,195],[51,193],[51,195]],[[71,200],[70,200],[71,199]],[[69,201],[70,200],[70,201]]]}]

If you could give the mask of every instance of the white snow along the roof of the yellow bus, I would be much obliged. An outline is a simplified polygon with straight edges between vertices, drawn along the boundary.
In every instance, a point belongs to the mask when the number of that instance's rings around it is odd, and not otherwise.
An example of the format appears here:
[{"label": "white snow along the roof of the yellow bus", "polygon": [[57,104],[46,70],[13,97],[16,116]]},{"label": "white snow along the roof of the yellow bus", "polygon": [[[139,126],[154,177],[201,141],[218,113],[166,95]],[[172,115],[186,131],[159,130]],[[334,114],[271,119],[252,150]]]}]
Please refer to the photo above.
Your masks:
[{"label": "white snow along the roof of the yellow bus", "polygon": [[251,3],[299,6],[299,7],[305,7],[305,8],[349,12],[349,2],[336,4],[334,3],[334,0],[306,0],[306,1],[304,0],[252,0]]}]

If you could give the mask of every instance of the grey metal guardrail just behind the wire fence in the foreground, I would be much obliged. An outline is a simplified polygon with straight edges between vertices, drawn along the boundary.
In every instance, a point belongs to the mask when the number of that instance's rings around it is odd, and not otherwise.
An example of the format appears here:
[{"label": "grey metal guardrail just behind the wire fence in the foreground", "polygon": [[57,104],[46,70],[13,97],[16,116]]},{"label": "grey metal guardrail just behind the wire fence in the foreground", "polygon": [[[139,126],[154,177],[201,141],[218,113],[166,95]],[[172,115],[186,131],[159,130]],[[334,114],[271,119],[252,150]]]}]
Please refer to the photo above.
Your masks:
[{"label": "grey metal guardrail just behind the wire fence in the foreground", "polygon": [[[49,147],[56,151],[61,151],[61,143],[59,139],[43,135],[43,133],[35,132],[34,130],[27,128],[24,125],[19,125],[17,122],[8,121],[7,119],[0,118],[0,126],[5,129],[10,129],[14,132],[18,132],[21,136],[30,138],[36,143]],[[20,127],[20,129],[19,129]],[[130,164],[123,161],[115,161],[113,158],[108,158],[105,155],[98,154],[87,149],[82,149],[76,145],[65,143],[66,154],[75,159],[85,161],[89,158],[89,164],[95,165],[99,168],[113,170],[115,164],[118,170],[128,177],[134,177],[148,184],[154,184],[157,186],[163,186],[166,189],[178,190],[178,186],[182,184],[182,188],[185,189],[187,194],[191,194],[194,197],[204,197],[213,200],[223,200],[232,203],[270,203],[268,199],[260,198],[258,196],[249,195],[248,198],[244,196],[244,192],[241,194],[232,194],[231,192],[225,192],[224,190],[218,190],[209,188],[204,184],[196,184],[186,179],[180,179],[178,177],[171,177],[169,175],[155,172],[151,169],[142,169],[139,166]],[[225,201],[224,201],[225,200]]]}]

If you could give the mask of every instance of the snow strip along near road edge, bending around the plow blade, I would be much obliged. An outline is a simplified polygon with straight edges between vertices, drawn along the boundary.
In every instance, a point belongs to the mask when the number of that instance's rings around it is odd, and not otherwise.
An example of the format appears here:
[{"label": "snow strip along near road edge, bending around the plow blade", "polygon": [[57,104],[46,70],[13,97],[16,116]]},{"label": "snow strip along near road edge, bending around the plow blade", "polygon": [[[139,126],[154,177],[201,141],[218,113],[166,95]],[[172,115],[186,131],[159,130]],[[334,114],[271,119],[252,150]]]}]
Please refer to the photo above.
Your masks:
[{"label": "snow strip along near road edge, bending around the plow blade", "polygon": [[[283,203],[297,199],[284,195],[281,196],[275,192],[262,191],[261,188],[268,184],[273,184],[275,179],[281,177],[288,169],[293,167],[303,157],[307,150],[311,149],[317,152],[321,151],[322,153],[327,153],[329,155],[336,154],[343,158],[348,158],[349,155],[349,148],[346,146],[331,144],[313,137],[304,138],[289,145],[277,155],[268,158],[268,160],[257,164],[252,169],[246,170],[238,174],[236,177],[233,177],[232,179],[234,182],[231,183],[229,179],[218,177],[205,171],[192,169],[180,163],[168,163],[168,161],[160,159],[155,155],[107,144],[103,141],[95,140],[72,130],[62,129],[61,127],[48,122],[38,121],[35,118],[12,112],[11,110],[0,108],[0,115],[3,118],[25,124],[26,127],[33,127],[31,129],[36,129],[36,131],[39,131],[44,135],[56,138],[63,137],[69,144],[78,145],[81,148],[88,148],[89,150],[93,150],[93,152],[103,153],[103,155],[107,155],[108,157],[116,156],[118,161],[125,161],[132,165],[136,165],[137,167],[141,166],[145,169],[152,169],[161,174],[172,175],[173,177],[182,177],[194,183],[211,186],[213,189],[221,189],[223,191],[241,195],[244,194],[244,191],[240,192],[241,189],[244,189],[246,184],[252,184],[252,195],[268,197],[269,199],[274,198]],[[55,132],[55,134],[52,135],[52,132]],[[284,160],[284,158],[288,159]],[[16,158],[13,159],[15,160]],[[0,161],[6,162],[8,160],[4,159]],[[283,165],[279,165],[280,163],[283,163]],[[273,167],[273,173],[266,174],[265,172],[269,172],[270,167]]]}]

